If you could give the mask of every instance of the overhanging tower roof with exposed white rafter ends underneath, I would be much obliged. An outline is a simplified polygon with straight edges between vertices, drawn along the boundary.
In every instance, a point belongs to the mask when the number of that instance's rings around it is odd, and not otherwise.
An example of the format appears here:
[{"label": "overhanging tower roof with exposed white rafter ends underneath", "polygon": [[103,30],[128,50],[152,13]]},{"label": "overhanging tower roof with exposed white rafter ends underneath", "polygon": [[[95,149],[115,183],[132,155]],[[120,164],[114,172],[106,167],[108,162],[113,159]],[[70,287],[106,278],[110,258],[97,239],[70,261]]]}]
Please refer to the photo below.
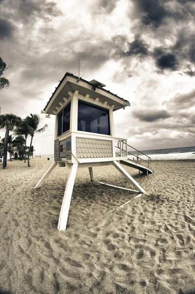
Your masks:
[{"label": "overhanging tower roof with exposed white rafter ends underneath", "polygon": [[52,97],[45,106],[44,112],[47,114],[55,114],[56,109],[63,105],[64,100],[68,100],[70,92],[74,93],[75,91],[79,91],[81,97],[87,96],[94,100],[98,98],[98,101],[103,103],[106,101],[106,104],[110,105],[113,111],[131,106],[129,101],[112,94],[110,91],[101,88],[101,86],[96,87],[95,91],[93,89],[93,84],[90,84],[90,82],[72,73],[65,73],[63,79],[60,81]]}]

